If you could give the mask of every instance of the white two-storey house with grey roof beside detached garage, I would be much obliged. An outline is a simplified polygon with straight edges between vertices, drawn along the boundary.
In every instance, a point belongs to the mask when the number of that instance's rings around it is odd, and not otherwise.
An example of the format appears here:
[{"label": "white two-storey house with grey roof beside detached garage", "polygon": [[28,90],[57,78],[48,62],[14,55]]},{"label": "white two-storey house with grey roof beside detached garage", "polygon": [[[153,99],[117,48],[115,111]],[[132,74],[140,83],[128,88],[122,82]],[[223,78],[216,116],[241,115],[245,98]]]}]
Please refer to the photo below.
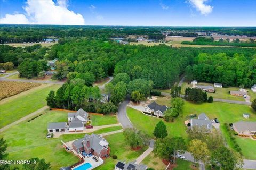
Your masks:
[{"label": "white two-storey house with grey roof beside detached garage", "polygon": [[80,108],[77,112],[68,113],[69,132],[83,131],[88,121],[88,113]]}]

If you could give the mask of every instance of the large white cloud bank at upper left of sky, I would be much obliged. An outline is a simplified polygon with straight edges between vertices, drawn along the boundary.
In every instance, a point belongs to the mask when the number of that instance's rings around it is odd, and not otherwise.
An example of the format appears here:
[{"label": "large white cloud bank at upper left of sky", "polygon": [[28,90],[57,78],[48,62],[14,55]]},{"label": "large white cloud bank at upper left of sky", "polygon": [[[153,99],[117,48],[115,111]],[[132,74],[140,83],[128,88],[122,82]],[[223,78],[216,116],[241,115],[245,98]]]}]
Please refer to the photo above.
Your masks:
[{"label": "large white cloud bank at upper left of sky", "polygon": [[84,25],[81,14],[68,10],[66,0],[27,0],[25,14],[6,14],[0,23]]}]

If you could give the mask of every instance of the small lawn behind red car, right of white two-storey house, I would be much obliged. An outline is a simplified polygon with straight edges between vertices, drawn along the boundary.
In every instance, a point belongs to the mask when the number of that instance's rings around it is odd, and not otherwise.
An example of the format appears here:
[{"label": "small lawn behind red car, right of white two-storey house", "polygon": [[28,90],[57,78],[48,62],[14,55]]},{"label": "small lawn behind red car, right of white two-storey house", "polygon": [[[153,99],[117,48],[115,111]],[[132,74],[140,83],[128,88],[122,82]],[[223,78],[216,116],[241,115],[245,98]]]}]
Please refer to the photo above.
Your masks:
[{"label": "small lawn behind red car, right of white two-storey house", "polygon": [[94,126],[101,126],[101,125],[107,125],[107,124],[116,124],[117,119],[116,115],[90,115],[90,120],[92,120],[92,125]]}]

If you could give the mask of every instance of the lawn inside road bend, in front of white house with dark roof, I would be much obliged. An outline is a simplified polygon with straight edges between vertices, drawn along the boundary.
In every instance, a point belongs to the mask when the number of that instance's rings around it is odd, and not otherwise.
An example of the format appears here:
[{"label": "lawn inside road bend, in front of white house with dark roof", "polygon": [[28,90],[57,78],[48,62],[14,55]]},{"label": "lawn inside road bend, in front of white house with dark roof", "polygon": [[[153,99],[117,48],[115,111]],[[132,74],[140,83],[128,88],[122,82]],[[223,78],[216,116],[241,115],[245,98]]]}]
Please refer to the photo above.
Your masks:
[{"label": "lawn inside road bend, in front of white house with dark roof", "polygon": [[154,128],[156,124],[161,120],[167,126],[167,132],[170,137],[187,137],[187,134],[185,132],[187,128],[184,125],[185,119],[183,117],[175,119],[174,122],[165,122],[162,118],[145,115],[131,107],[127,108],[127,115],[137,129],[147,132],[150,135],[150,137],[153,137]]}]

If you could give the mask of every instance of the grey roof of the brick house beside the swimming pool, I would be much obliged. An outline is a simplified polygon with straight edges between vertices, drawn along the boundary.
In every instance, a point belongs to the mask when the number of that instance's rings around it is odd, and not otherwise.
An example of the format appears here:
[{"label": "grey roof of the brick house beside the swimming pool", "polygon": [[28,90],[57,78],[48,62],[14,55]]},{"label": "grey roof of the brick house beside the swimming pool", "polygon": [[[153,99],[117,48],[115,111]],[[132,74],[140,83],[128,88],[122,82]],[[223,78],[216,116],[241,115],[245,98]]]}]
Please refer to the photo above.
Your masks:
[{"label": "grey roof of the brick house beside the swimming pool", "polygon": [[[90,146],[87,146],[87,141],[89,141]],[[99,154],[100,151],[105,148],[104,146],[108,145],[108,141],[92,133],[91,135],[86,134],[84,138],[75,140],[73,144],[76,146],[76,148],[86,147],[88,150],[93,149]]]}]

